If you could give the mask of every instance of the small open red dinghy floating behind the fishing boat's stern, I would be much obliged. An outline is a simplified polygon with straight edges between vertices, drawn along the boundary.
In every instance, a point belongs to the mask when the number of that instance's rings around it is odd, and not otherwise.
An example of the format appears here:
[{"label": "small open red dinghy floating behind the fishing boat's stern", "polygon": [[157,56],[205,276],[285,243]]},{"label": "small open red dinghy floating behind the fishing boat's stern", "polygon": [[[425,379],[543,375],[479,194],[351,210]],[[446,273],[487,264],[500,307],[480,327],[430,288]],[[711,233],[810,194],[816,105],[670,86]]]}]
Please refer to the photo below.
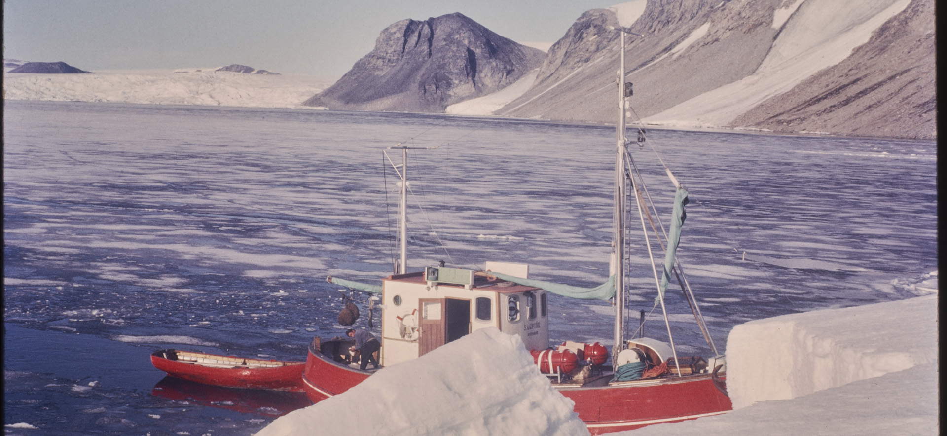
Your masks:
[{"label": "small open red dinghy floating behind the fishing boat's stern", "polygon": [[226,388],[300,392],[304,364],[177,350],[152,353],[154,368],[172,377]]}]

